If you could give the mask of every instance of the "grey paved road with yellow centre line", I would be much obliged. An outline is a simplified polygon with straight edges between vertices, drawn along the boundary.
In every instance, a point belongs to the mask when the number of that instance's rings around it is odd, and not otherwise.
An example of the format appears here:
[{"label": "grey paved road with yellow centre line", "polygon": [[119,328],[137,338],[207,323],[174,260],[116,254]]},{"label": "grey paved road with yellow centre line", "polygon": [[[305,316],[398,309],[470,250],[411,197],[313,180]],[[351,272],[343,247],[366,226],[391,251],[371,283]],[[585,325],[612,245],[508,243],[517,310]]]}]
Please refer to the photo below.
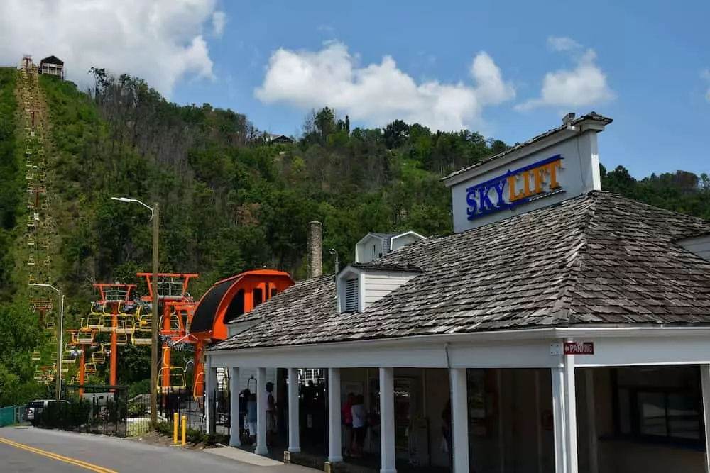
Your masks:
[{"label": "grey paved road with yellow centre line", "polygon": [[[236,449],[220,455],[176,447],[146,445],[136,440],[41,430],[0,428],[0,471],[3,473],[312,473]],[[228,457],[225,457],[228,456]],[[239,460],[233,460],[234,457]],[[263,466],[260,466],[263,465]]]}]

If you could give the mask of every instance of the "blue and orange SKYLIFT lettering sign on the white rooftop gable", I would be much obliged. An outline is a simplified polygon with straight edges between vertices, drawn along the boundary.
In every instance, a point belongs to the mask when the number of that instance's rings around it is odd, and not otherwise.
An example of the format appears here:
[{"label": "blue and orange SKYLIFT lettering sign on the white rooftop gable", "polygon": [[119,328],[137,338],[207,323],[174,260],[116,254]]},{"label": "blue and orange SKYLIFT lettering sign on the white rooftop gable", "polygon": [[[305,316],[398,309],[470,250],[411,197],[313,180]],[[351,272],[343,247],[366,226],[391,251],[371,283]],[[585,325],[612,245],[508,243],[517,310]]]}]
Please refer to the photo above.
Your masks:
[{"label": "blue and orange SKYLIFT lettering sign on the white rooftop gable", "polygon": [[557,172],[562,155],[554,155],[531,165],[508,171],[466,189],[469,220],[513,208],[562,191]]}]

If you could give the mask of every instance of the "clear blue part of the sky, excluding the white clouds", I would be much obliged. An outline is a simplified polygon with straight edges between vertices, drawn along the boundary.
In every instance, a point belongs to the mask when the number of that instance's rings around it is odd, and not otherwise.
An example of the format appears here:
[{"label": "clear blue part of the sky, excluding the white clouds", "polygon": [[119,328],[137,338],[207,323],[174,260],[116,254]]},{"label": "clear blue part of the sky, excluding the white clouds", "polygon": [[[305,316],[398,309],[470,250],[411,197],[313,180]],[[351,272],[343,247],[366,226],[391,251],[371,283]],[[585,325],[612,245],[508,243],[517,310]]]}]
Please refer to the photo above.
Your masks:
[{"label": "clear blue part of the sky, excluding the white clouds", "polygon": [[[557,126],[568,109],[595,110],[615,120],[600,135],[607,167],[623,165],[635,177],[675,169],[710,172],[710,81],[701,77],[710,67],[710,4],[694,1],[694,9],[672,9],[662,1],[621,3],[555,2],[543,8],[530,1],[224,2],[224,35],[209,42],[217,83],[182,82],[173,99],[233,108],[259,128],[291,134],[300,128],[304,110],[263,104],[254,96],[278,48],[317,51],[324,41],[339,40],[361,55],[361,65],[391,55],[417,82],[466,81],[471,59],[483,50],[515,84],[517,96],[483,109],[484,134],[513,143]],[[547,48],[550,36],[593,48],[616,98],[516,111],[515,104],[540,95],[547,72],[574,67],[569,57]]]}]

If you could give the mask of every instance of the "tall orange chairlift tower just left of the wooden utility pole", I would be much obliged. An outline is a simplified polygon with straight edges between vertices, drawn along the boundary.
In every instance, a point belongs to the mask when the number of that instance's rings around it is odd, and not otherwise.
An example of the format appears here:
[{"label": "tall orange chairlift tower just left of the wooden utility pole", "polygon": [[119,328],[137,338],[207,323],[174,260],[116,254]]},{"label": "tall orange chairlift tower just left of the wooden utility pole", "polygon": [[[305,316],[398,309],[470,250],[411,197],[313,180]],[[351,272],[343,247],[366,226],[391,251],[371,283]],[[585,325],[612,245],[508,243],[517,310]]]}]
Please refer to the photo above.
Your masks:
[{"label": "tall orange chairlift tower just left of the wooden utility pole", "polygon": [[[136,284],[94,284],[99,289],[100,300],[92,304],[92,311],[82,325],[82,329],[95,332],[111,333],[111,349],[109,351],[109,384],[116,386],[116,370],[118,367],[118,345],[126,345],[129,333],[133,333],[133,316],[121,311],[124,304],[131,301],[131,290]],[[110,325],[109,325],[110,323]],[[84,341],[89,341],[88,338]],[[93,342],[93,340],[92,340]],[[105,348],[105,347],[103,347]],[[104,352],[105,352],[104,351]],[[89,366],[95,372],[96,365]],[[86,369],[86,367],[84,367]],[[89,372],[89,371],[87,371]],[[81,376],[81,374],[80,374]]]}]

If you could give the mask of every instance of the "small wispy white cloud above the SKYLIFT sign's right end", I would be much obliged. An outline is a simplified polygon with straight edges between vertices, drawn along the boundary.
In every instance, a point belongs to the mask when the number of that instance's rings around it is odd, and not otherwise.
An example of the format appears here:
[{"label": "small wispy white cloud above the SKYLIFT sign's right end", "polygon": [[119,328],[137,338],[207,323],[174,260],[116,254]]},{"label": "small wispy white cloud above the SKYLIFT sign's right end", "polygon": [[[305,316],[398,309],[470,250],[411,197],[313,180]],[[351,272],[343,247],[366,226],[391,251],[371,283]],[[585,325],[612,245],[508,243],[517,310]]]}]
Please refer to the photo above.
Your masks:
[{"label": "small wispy white cloud above the SKYLIFT sign's right end", "polygon": [[[569,38],[548,38],[555,50],[571,51],[581,45]],[[580,107],[610,101],[616,98],[606,82],[606,74],[596,65],[596,52],[588,49],[574,54],[577,67],[547,72],[542,80],[542,91],[537,99],[515,106],[516,110],[530,110],[540,106]]]}]

